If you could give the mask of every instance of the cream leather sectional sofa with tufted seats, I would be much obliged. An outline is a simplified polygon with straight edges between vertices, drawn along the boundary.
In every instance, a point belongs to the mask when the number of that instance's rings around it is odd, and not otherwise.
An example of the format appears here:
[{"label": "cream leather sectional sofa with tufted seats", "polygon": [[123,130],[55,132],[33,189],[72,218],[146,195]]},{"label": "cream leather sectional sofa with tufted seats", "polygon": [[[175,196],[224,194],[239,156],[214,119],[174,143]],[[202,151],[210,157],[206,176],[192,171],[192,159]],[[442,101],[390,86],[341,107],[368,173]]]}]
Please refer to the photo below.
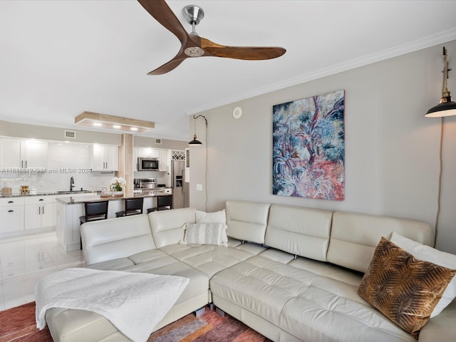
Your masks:
[{"label": "cream leather sectional sofa with tufted seats", "polygon": [[[193,208],[83,224],[88,267],[186,276],[190,283],[156,329],[213,303],[273,341],[415,341],[358,295],[381,237],[432,243],[424,222],[279,204],[227,201],[228,247],[180,244]],[[419,341],[454,341],[456,301]],[[54,341],[129,341],[81,310],[46,314]]]}]

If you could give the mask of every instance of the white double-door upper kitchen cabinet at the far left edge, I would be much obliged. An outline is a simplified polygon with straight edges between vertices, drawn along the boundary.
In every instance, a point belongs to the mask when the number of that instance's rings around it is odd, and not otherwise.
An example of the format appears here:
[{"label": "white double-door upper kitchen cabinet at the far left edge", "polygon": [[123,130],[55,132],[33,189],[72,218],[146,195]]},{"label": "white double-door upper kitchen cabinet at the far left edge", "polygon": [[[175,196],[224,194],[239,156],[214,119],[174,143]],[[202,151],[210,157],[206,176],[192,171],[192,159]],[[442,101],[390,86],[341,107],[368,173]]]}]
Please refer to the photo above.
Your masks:
[{"label": "white double-door upper kitchen cabinet at the far left edge", "polygon": [[43,140],[1,139],[1,167],[45,168],[48,142]]}]

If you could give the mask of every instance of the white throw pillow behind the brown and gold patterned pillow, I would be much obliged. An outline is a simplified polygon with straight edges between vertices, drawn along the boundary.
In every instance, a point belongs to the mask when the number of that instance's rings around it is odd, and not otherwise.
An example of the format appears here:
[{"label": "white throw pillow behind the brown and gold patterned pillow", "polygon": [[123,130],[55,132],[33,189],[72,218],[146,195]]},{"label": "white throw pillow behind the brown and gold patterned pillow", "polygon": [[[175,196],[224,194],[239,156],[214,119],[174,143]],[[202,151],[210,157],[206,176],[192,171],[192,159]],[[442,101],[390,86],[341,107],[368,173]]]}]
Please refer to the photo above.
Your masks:
[{"label": "white throw pillow behind the brown and gold patterned pillow", "polygon": [[[413,255],[416,259],[420,259],[423,261],[429,261],[433,264],[437,264],[440,266],[445,266],[449,269],[456,269],[456,255],[445,253],[434,249],[430,246],[426,246],[425,244],[420,244],[420,242],[413,241],[408,239],[407,237],[403,237],[402,235],[393,232],[391,235],[391,242],[393,244],[398,245],[400,248],[405,249],[406,252],[409,252]],[[437,316],[445,309],[448,304],[452,302],[453,299],[456,297],[456,276],[450,281],[447,288],[442,294],[442,298],[435,306],[434,310],[432,310],[432,314],[430,314],[430,318]]]}]

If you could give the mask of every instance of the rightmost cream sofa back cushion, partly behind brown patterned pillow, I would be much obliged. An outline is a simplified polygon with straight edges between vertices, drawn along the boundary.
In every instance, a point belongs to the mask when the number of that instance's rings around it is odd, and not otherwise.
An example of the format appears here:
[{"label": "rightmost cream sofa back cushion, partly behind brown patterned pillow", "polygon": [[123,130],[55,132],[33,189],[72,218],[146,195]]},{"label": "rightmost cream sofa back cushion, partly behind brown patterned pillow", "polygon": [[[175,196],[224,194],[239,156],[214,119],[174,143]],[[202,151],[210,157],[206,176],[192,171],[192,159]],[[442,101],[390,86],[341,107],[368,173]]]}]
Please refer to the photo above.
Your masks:
[{"label": "rightmost cream sofa back cushion, partly behind brown patterned pillow", "polygon": [[425,222],[354,212],[335,212],[328,261],[348,269],[366,272],[380,239],[390,239],[393,232],[422,244],[430,245],[433,241],[432,228]]}]

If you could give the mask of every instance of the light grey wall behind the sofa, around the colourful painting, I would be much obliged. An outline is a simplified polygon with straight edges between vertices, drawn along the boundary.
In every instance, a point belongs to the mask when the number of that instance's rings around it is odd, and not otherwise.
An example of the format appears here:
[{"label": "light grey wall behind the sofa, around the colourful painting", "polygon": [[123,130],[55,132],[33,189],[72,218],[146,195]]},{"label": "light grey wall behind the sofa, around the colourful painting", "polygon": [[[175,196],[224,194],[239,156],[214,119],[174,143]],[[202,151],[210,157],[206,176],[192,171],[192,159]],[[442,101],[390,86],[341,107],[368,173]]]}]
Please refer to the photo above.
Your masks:
[{"label": "light grey wall behind the sofa, around the colourful painting", "polygon": [[[191,149],[190,205],[214,211],[227,199],[244,199],[386,214],[433,227],[440,118],[423,115],[440,100],[442,46],[450,55],[448,88],[456,97],[456,41],[451,41],[199,113],[208,121],[207,139],[204,120],[198,119],[204,147]],[[339,89],[346,90],[345,200],[271,195],[272,106]],[[238,106],[243,115],[235,120],[232,110]],[[437,248],[456,253],[456,117],[445,119],[443,156]],[[197,183],[205,191],[196,192]]]}]

